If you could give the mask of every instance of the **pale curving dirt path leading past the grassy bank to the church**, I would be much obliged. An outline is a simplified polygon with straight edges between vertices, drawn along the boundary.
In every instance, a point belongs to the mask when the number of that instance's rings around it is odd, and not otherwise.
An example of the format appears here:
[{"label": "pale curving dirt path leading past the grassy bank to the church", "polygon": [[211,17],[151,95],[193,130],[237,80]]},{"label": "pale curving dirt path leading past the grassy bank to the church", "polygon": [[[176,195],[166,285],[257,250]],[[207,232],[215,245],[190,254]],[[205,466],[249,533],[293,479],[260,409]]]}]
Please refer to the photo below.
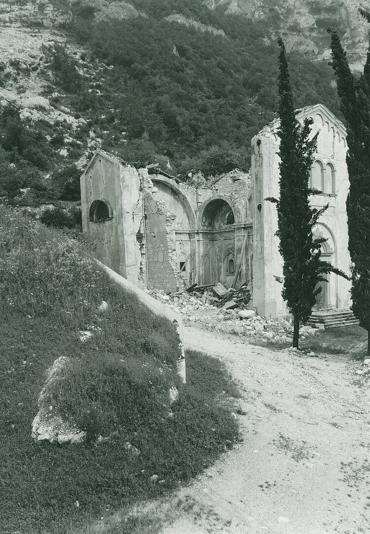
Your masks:
[{"label": "pale curving dirt path leading past the grassy bank to the church", "polygon": [[195,327],[184,339],[241,382],[243,443],[159,506],[161,534],[370,532],[370,389],[356,363]]}]

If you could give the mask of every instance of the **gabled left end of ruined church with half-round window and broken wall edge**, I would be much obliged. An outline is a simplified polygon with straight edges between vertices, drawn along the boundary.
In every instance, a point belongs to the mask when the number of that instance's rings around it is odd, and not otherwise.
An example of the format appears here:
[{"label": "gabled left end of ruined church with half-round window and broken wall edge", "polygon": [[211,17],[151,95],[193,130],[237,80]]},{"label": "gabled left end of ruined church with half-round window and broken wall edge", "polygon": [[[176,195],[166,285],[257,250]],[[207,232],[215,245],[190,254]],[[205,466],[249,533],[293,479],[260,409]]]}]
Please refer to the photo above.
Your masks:
[{"label": "gabled left end of ruined church with half-round window and broken wall edge", "polygon": [[83,232],[107,267],[142,288],[183,287],[172,238],[174,216],[146,169],[96,151],[81,176],[81,211]]}]

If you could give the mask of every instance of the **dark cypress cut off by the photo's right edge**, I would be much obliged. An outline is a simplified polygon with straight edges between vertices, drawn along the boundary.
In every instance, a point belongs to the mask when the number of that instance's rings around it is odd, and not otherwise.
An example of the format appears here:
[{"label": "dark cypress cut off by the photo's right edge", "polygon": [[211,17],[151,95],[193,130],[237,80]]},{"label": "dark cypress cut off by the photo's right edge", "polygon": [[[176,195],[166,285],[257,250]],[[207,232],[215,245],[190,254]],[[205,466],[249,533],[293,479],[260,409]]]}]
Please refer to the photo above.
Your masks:
[{"label": "dark cypress cut off by the photo's right edge", "polygon": [[[359,10],[370,22],[370,13]],[[352,311],[367,330],[370,355],[370,44],[364,72],[351,73],[337,33],[332,35],[332,65],[347,122],[346,156],[350,189],[347,198],[348,249],[352,260]]]}]

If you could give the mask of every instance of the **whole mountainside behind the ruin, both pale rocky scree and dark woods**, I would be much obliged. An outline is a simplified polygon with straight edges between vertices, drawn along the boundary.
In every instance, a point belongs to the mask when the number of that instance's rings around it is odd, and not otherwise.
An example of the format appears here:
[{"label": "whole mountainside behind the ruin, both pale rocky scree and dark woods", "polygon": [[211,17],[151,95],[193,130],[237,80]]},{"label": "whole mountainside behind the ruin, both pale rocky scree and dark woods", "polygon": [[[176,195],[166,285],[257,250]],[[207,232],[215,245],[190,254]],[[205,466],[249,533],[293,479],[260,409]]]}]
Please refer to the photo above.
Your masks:
[{"label": "whole mountainside behind the ruin, both pale rocky scree and dark woods", "polygon": [[[97,146],[136,165],[158,161],[180,179],[191,169],[248,170],[251,137],[276,116],[275,32],[281,27],[289,40],[286,11],[277,2],[252,17],[242,0],[211,4],[2,4],[0,188],[9,199],[21,187],[78,198],[74,163]],[[367,30],[360,18],[357,27]],[[318,59],[329,45],[323,29],[320,38],[315,61],[292,47],[296,102],[321,102],[341,116],[332,71]]]}]

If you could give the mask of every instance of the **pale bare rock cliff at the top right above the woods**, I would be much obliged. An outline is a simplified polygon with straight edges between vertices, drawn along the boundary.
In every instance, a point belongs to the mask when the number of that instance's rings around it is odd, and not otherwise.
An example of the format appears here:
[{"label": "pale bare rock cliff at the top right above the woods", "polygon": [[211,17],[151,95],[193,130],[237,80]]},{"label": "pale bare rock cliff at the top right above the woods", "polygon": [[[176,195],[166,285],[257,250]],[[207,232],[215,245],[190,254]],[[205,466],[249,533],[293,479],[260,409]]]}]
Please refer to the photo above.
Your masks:
[{"label": "pale bare rock cliff at the top right above the woods", "polygon": [[370,11],[370,0],[205,0],[205,4],[228,14],[265,19],[280,30],[288,50],[312,53],[318,59],[330,57],[325,28],[333,27],[342,38],[352,67],[361,69],[365,60],[369,27],[358,8]]}]

